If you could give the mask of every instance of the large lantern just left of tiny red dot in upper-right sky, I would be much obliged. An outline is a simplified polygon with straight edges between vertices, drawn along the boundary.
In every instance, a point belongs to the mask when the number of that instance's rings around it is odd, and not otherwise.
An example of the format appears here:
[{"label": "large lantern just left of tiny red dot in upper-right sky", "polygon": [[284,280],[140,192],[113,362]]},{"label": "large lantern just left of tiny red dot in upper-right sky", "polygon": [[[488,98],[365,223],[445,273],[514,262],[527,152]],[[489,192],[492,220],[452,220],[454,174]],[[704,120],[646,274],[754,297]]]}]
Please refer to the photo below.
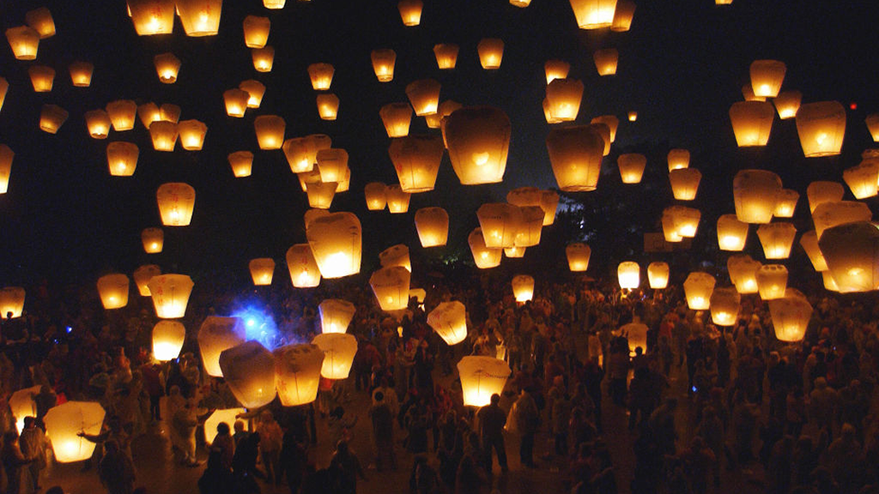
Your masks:
[{"label": "large lantern just left of tiny red dot in upper-right sky", "polygon": [[846,135],[846,109],[839,102],[805,103],[796,114],[805,157],[836,156]]}]

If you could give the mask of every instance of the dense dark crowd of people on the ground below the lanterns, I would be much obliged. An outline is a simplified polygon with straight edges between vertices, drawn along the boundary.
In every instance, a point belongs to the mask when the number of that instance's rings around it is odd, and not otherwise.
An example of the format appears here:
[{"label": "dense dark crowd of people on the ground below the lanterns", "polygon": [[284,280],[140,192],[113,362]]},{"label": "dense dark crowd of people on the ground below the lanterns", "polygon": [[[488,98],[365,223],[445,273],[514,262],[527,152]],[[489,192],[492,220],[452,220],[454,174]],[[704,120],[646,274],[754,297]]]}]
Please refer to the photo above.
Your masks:
[{"label": "dense dark crowd of people on the ground below the lanterns", "polygon": [[[355,493],[358,481],[399,469],[411,469],[417,494],[489,492],[511,469],[552,469],[577,494],[720,492],[733,477],[779,494],[879,490],[879,306],[869,297],[816,292],[805,338],[785,344],[756,295],[743,298],[738,322],[724,328],[709,313],[688,310],[674,286],[621,292],[611,283],[539,280],[524,304],[491,274],[430,278],[424,286],[426,299],[412,299],[401,319],[379,310],[356,283],[196,290],[183,319],[183,353],[168,363],[150,355],[157,319],[149,299],[104,311],[94,294],[36,287],[26,314],[0,328],[5,492],[41,489],[51,463],[42,419],[66,400],[104,406],[101,434],[84,435],[98,447],[83,469],[94,467],[113,494],[140,487],[132,441],[157,423],[179,468],[203,469],[204,494],[267,485]],[[285,408],[275,400],[241,414],[234,427],[206,431],[212,441],[203,445],[196,431],[204,418],[239,404],[222,379],[204,373],[196,330],[207,315],[231,314],[254,297],[277,318],[275,346],[320,333],[322,300],[353,302],[349,333],[358,337],[358,354],[349,379],[323,381],[314,403]],[[468,337],[457,346],[426,321],[449,300],[468,311]],[[648,327],[646,347],[630,348],[620,333],[630,322]],[[463,355],[503,358],[512,369],[503,393],[481,409],[464,406],[456,371]],[[19,434],[8,399],[33,386],[40,387],[36,414]],[[352,409],[357,400],[371,403],[366,414]],[[608,424],[629,430],[621,435]],[[354,431],[368,431],[373,447],[355,451]],[[615,468],[609,435],[630,441],[633,474]],[[517,444],[518,463],[508,458]],[[315,458],[318,445],[332,448],[329,463]],[[403,454],[412,464],[401,462]]]}]

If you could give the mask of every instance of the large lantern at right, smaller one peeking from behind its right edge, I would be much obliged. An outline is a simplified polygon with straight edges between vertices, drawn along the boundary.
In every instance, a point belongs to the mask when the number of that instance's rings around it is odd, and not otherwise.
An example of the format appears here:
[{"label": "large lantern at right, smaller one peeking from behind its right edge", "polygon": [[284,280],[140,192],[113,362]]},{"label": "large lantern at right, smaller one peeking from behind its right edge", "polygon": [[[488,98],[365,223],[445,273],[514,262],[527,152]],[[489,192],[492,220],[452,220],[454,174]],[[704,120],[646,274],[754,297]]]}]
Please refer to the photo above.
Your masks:
[{"label": "large lantern at right, smaller one peeking from behind its right edge", "polygon": [[768,223],[775,211],[782,179],[766,170],[741,170],[732,182],[736,216],[746,223]]}]

